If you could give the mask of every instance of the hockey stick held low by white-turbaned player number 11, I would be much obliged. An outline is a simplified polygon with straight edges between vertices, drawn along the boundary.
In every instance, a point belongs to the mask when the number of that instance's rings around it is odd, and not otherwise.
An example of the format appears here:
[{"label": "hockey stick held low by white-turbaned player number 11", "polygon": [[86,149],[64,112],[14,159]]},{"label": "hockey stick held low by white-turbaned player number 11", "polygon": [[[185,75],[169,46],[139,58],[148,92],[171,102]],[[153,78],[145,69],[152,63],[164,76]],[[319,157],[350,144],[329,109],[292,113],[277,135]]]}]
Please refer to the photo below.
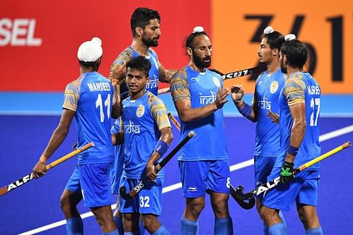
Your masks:
[{"label": "hockey stick held low by white-turbaned player number 11", "polygon": [[[49,169],[56,167],[57,165],[61,164],[62,162],[65,162],[67,159],[70,159],[71,157],[78,155],[78,153],[83,152],[85,150],[88,150],[90,147],[93,147],[93,146],[95,146],[95,144],[90,142],[87,145],[84,145],[83,147],[80,147],[79,149],[68,153],[64,157],[61,157],[61,158],[55,160],[54,162],[47,164],[45,166],[45,168],[48,171]],[[4,186],[4,187],[0,188],[0,195],[4,195],[5,193],[12,191],[13,189],[18,188],[19,186],[23,186],[23,184],[28,183],[32,179],[34,179],[33,173],[27,174],[27,175],[23,176],[22,178],[18,179],[17,181],[10,183],[8,186]]]}]

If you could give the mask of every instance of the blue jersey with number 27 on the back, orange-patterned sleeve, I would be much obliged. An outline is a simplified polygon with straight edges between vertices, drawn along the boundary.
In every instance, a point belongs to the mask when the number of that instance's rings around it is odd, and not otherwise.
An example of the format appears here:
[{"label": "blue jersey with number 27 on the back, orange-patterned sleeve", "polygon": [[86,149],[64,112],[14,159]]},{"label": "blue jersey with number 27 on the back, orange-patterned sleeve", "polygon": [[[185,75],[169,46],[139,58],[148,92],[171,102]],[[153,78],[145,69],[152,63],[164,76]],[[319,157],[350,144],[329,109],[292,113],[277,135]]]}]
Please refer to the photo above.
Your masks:
[{"label": "blue jersey with number 27 on the back, orange-patterned sleeve", "polygon": [[[318,157],[321,153],[319,138],[319,117],[320,117],[320,95],[321,88],[316,80],[309,73],[293,73],[280,94],[280,131],[281,147],[280,156],[277,157],[275,167],[282,167],[287,155],[287,148],[290,143],[290,135],[293,126],[293,119],[289,107],[305,102],[306,131],[304,139],[299,147],[297,157],[294,159],[294,167],[309,162]],[[318,170],[320,163],[314,164],[308,170]]]}]

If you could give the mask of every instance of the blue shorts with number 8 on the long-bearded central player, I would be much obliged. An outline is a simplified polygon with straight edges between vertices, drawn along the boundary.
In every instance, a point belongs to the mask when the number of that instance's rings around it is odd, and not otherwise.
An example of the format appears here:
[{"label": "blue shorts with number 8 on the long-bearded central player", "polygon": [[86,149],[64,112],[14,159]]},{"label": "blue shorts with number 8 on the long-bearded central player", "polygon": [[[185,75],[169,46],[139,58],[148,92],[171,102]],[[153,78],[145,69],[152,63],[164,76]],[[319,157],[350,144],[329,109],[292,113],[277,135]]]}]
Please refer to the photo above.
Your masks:
[{"label": "blue shorts with number 8 on the long-bearded central player", "polygon": [[229,160],[179,161],[184,198],[201,198],[206,192],[229,193]]}]

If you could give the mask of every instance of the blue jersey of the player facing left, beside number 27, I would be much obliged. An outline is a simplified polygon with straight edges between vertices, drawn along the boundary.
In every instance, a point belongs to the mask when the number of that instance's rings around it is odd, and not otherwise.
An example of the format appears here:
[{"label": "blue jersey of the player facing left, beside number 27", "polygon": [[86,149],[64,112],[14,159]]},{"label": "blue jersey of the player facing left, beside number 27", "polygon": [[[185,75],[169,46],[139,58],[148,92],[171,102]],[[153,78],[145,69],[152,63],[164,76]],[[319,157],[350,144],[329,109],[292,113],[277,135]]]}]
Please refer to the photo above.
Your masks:
[{"label": "blue jersey of the player facing left, beside number 27", "polygon": [[[278,68],[275,73],[261,73],[256,80],[253,106],[257,106],[256,143],[254,155],[277,157],[280,150],[280,126],[267,116],[270,110],[278,114],[278,97],[285,84],[285,75]],[[255,108],[255,107],[254,107]]]}]

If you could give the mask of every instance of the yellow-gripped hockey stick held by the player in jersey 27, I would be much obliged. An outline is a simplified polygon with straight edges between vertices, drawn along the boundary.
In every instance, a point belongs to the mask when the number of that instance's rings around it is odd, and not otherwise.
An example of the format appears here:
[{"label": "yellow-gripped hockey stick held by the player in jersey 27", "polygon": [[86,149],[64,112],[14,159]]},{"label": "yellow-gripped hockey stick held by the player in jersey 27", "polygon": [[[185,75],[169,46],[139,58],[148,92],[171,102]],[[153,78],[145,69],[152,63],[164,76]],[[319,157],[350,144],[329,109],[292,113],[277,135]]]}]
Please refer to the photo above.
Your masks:
[{"label": "yellow-gripped hockey stick held by the player in jersey 27", "polygon": [[[316,157],[315,159],[312,159],[311,161],[306,162],[305,164],[302,164],[300,167],[293,170],[293,174],[294,175],[298,174],[300,171],[304,171],[304,169],[311,167],[313,164],[321,162],[323,159],[331,157],[332,155],[335,155],[337,152],[340,152],[350,146],[351,146],[351,143],[348,141],[343,145],[340,145],[339,147],[336,147],[333,150],[326,152],[320,157]],[[235,193],[237,195],[237,198],[239,198],[239,200],[249,200],[250,198],[254,198],[257,195],[260,195],[261,193],[265,193],[265,191],[268,191],[271,188],[275,188],[275,186],[277,186],[278,183],[280,183],[280,176],[273,179],[272,181],[268,181],[267,183],[264,183],[263,185],[258,186],[257,188],[253,189],[249,193],[243,193],[243,189],[244,189],[243,186],[238,186]]]}]

